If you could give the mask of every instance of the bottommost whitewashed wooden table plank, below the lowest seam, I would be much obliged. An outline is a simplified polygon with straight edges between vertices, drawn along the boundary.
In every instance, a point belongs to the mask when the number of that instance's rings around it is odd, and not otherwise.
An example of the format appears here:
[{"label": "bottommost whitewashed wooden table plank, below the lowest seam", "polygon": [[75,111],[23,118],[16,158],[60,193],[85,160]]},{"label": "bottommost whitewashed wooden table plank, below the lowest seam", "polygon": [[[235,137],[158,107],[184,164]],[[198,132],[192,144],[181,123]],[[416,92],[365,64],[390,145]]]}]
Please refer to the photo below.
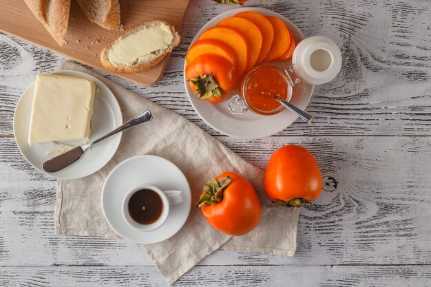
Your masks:
[{"label": "bottommost whitewashed wooden table plank, below the lowest seam", "polygon": [[[150,266],[4,268],[5,286],[166,286]],[[392,286],[416,287],[431,279],[423,266],[196,266],[175,286]],[[291,284],[292,282],[292,284]],[[291,284],[291,285],[290,285]]]}]

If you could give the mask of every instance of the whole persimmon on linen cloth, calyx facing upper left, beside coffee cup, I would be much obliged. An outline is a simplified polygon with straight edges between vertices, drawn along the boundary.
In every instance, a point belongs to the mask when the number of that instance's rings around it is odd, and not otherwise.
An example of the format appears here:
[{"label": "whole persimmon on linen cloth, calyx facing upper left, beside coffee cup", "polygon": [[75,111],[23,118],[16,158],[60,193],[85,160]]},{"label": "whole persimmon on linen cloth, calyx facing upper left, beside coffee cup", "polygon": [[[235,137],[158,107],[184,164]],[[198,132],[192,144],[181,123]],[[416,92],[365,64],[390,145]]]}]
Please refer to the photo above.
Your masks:
[{"label": "whole persimmon on linen cloth, calyx facing upper left, beside coffee cup", "polygon": [[221,173],[204,184],[198,208],[213,228],[232,236],[249,233],[262,217],[253,186],[233,171]]}]

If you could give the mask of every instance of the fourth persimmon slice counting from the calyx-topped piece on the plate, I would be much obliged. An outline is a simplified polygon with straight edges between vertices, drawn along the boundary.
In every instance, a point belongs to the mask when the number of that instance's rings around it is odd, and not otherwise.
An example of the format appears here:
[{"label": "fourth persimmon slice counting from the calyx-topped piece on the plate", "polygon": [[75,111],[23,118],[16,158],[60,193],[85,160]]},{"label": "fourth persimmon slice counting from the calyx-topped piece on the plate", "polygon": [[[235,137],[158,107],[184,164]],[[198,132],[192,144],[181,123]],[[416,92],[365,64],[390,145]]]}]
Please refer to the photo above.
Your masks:
[{"label": "fourth persimmon slice counting from the calyx-topped piece on the plate", "polygon": [[256,12],[244,11],[236,14],[235,17],[241,17],[250,20],[260,30],[260,33],[262,34],[262,47],[260,48],[259,56],[257,56],[256,64],[261,63],[264,60],[266,54],[268,54],[268,51],[271,48],[271,43],[273,43],[273,25],[271,25],[271,22],[263,15]]}]

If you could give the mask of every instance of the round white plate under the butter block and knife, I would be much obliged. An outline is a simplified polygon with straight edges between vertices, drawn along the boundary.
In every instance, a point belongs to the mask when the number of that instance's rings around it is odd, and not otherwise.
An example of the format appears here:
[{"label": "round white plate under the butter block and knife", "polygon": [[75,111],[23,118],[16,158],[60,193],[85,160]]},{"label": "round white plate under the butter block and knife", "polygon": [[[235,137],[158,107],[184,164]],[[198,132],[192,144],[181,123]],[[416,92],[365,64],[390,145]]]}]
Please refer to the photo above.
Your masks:
[{"label": "round white plate under the butter block and knife", "polygon": [[[94,76],[90,76],[89,74],[76,71],[59,71],[52,74],[87,78],[96,83],[98,92],[96,92],[96,95],[94,96],[92,136],[90,141],[104,136],[109,133],[109,131],[112,131],[123,124],[120,106],[118,105],[114,94],[112,94],[111,90],[104,83],[98,81],[97,78],[94,78]],[[111,160],[112,156],[114,156],[118,145],[120,145],[121,134],[116,134],[108,140],[104,140],[103,142],[94,145],[89,150],[85,151],[81,159],[70,164],[69,167],[65,167],[64,169],[54,173],[47,173],[43,170],[43,162],[55,156],[52,154],[47,155],[45,153],[47,151],[59,150],[61,148],[54,145],[52,142],[40,142],[33,144],[32,147],[28,145],[28,131],[30,129],[30,115],[32,111],[34,85],[35,82],[33,82],[22,94],[14,114],[15,140],[17,140],[17,145],[24,158],[32,164],[35,169],[38,169],[48,176],[54,176],[56,178],[83,178],[84,176],[90,176],[90,174],[104,167],[105,164]],[[82,141],[71,141],[65,143],[69,145],[79,145]]]}]

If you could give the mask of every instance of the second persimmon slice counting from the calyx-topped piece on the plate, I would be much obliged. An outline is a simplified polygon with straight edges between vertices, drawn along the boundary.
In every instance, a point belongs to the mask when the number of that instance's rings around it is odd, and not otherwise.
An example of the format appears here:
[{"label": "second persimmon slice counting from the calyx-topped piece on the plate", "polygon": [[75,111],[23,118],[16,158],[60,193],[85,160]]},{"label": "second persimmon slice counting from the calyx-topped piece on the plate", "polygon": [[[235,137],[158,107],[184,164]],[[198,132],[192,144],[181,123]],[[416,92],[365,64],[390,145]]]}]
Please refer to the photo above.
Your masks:
[{"label": "second persimmon slice counting from the calyx-topped piece on the plate", "polygon": [[203,39],[215,39],[229,45],[238,57],[238,76],[244,73],[249,59],[249,43],[241,32],[230,27],[216,26],[203,32],[199,40]]}]

